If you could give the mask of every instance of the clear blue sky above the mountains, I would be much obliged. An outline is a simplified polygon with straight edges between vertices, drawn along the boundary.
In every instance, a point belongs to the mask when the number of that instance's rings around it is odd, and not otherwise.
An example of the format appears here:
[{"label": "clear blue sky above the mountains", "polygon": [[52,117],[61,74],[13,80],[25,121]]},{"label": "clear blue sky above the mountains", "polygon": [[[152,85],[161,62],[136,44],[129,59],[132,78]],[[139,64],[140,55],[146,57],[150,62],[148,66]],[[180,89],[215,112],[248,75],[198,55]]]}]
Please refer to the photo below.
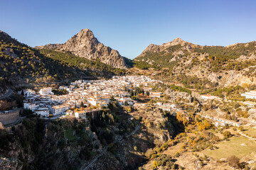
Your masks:
[{"label": "clear blue sky above the mountains", "polygon": [[256,1],[0,0],[0,30],[34,47],[63,43],[83,28],[137,57],[149,44],[180,37],[199,45],[256,39]]}]

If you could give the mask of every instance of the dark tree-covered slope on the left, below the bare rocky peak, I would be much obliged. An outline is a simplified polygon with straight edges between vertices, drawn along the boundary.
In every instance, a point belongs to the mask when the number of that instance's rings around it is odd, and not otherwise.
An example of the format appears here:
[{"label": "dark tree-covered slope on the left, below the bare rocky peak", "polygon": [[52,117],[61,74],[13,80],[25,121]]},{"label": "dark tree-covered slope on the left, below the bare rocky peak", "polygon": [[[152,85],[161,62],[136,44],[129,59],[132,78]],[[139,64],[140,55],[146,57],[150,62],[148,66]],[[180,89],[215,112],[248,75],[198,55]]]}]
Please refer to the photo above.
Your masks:
[{"label": "dark tree-covered slope on the left, below the bare rocky peak", "polygon": [[9,84],[108,77],[124,72],[124,69],[111,67],[98,60],[76,57],[70,52],[38,50],[0,32],[0,79]]}]

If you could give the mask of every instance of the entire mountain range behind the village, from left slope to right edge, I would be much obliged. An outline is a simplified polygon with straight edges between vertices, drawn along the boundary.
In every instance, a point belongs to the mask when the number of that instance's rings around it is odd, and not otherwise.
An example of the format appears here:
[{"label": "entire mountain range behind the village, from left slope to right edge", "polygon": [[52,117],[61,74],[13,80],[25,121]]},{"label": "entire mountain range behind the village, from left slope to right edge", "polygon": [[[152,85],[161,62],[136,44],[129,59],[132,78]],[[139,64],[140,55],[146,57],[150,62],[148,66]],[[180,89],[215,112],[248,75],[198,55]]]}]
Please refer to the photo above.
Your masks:
[{"label": "entire mountain range behind the village, from left slope to right edge", "polygon": [[103,45],[89,29],[81,30],[63,44],[35,48],[0,31],[0,45],[0,78],[15,82],[109,77],[126,74],[129,67],[152,67],[169,69],[167,78],[187,85],[256,84],[255,41],[222,47],[195,45],[176,38],[162,45],[149,45],[134,60]]}]

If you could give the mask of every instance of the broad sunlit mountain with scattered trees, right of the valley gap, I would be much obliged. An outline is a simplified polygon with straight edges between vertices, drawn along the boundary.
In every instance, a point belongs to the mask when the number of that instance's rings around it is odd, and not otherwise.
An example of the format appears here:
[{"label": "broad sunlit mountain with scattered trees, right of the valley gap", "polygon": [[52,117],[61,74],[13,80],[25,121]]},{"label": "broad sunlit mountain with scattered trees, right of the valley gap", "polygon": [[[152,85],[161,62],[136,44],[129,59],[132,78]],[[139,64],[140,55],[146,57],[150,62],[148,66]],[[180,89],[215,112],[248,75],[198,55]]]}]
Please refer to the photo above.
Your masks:
[{"label": "broad sunlit mountain with scattered trees, right of the valley gap", "polygon": [[194,45],[176,38],[162,45],[149,45],[134,61],[169,68],[179,79],[196,77],[230,86],[256,84],[255,59],[255,41],[223,47]]}]

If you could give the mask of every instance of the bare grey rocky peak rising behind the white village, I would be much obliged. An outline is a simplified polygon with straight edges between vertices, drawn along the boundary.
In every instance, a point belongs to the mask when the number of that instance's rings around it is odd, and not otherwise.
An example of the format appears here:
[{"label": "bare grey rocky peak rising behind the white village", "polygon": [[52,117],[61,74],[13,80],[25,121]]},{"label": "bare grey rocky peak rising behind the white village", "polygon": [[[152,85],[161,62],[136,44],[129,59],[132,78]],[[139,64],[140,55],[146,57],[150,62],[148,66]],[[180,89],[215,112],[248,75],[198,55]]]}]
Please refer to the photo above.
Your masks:
[{"label": "bare grey rocky peak rising behind the white village", "polygon": [[99,42],[89,29],[80,30],[78,34],[74,35],[73,38],[70,38],[64,44],[48,44],[37,46],[36,48],[71,52],[79,57],[100,60],[112,67],[127,68],[124,57],[119,55],[117,50],[113,50]]}]

